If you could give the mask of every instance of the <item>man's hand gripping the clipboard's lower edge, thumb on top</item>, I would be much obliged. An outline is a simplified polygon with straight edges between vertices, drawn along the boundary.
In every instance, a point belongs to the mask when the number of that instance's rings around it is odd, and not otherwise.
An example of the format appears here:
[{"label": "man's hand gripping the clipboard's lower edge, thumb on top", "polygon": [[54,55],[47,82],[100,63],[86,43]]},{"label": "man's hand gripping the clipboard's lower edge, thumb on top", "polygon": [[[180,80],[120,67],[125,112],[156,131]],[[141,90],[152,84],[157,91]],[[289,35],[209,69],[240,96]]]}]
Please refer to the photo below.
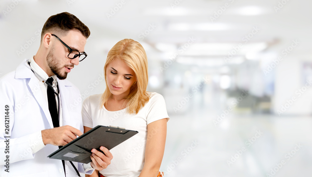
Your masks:
[{"label": "man's hand gripping the clipboard's lower edge, thumb on top", "polygon": [[107,168],[107,166],[110,165],[110,160],[113,159],[112,153],[110,153],[110,151],[107,148],[101,146],[100,150],[102,150],[103,153],[96,149],[91,150],[92,152],[91,166],[95,170],[99,170],[99,171]]}]

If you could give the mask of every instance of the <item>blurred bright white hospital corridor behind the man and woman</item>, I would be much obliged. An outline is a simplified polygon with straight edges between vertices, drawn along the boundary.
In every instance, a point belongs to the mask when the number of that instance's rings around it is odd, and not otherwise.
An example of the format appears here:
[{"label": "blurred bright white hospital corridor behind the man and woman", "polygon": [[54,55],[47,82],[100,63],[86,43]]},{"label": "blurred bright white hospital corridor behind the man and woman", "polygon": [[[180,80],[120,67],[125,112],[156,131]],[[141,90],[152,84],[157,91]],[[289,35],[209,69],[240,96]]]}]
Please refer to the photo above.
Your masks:
[{"label": "blurred bright white hospital corridor behind the man and woman", "polygon": [[142,44],[170,117],[165,177],[311,176],[312,1],[14,2],[0,1],[0,77],[36,54],[49,16],[73,13],[91,32],[67,77],[77,103],[104,92],[116,42]]}]

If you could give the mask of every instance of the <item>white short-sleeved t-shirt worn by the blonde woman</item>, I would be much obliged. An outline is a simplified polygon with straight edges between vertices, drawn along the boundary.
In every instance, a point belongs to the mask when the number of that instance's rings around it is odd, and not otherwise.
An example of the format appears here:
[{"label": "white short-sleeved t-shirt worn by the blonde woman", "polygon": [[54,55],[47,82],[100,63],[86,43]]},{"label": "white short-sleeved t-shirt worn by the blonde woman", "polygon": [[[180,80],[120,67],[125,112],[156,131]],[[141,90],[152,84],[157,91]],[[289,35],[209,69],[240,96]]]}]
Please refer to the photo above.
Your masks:
[{"label": "white short-sleeved t-shirt worn by the blonde woman", "polygon": [[144,166],[147,125],[164,118],[169,120],[163,96],[155,92],[148,94],[150,99],[138,114],[127,113],[127,108],[119,111],[106,110],[105,106],[100,105],[102,94],[89,96],[83,102],[83,126],[94,128],[97,125],[111,125],[139,132],[110,150],[113,159],[106,169],[100,171],[101,174],[107,177],[140,175]]}]

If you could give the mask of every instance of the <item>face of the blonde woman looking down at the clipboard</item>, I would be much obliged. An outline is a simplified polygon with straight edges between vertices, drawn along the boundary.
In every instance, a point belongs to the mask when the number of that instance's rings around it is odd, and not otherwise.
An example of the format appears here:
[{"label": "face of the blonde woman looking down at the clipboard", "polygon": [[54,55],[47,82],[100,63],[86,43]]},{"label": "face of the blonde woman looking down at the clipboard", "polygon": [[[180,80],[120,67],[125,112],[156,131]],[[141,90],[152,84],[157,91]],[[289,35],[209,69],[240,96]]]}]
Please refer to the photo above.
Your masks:
[{"label": "face of the blonde woman looking down at the clipboard", "polygon": [[130,93],[130,87],[136,81],[134,71],[118,58],[106,67],[106,79],[110,92],[118,99],[123,99]]}]

